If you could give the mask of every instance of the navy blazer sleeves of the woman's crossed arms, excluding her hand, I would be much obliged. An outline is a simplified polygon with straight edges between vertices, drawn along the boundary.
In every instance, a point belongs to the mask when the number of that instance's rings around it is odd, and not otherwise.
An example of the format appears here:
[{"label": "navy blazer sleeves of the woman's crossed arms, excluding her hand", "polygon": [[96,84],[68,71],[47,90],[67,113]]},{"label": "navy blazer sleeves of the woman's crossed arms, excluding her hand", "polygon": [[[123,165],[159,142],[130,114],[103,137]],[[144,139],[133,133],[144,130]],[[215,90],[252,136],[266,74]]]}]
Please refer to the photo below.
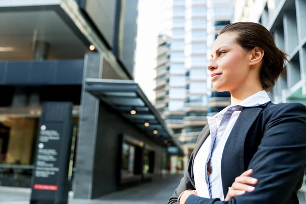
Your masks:
[{"label": "navy blazer sleeves of the woman's crossed arms, excluding her hand", "polygon": [[[298,203],[294,194],[301,185],[305,165],[306,108],[300,104],[286,105],[272,114],[261,144],[249,163],[248,169],[253,169],[252,177],[258,179],[254,186],[256,190],[228,201],[190,195],[185,204],[287,203],[291,199]],[[176,204],[177,197],[188,189],[194,190],[191,169],[186,171],[168,204]]]}]

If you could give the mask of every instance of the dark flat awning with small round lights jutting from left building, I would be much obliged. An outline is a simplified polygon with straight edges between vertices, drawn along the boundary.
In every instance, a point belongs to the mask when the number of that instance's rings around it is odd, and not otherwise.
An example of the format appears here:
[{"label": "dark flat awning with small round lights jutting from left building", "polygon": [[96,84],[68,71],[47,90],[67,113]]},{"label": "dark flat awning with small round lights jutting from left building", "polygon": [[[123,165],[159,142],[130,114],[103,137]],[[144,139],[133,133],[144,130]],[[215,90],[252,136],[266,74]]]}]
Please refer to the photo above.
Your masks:
[{"label": "dark flat awning with small round lights jutting from left building", "polygon": [[162,146],[168,146],[169,153],[184,156],[173,131],[133,80],[86,79],[85,90],[118,110]]}]

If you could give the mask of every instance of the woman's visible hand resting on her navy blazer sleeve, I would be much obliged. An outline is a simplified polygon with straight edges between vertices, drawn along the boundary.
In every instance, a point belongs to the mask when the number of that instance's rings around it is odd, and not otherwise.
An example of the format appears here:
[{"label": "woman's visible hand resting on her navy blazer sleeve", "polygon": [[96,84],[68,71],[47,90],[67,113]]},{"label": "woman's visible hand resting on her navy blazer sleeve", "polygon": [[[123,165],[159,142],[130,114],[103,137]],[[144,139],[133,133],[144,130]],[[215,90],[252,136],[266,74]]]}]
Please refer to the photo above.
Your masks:
[{"label": "woman's visible hand resting on her navy blazer sleeve", "polygon": [[258,183],[257,179],[249,177],[252,172],[253,170],[249,169],[243,172],[240,176],[236,177],[235,182],[232,184],[232,187],[230,188],[230,190],[228,190],[226,198],[224,199],[225,201],[228,201],[237,195],[244,194],[245,192],[255,190],[254,187],[249,186]]}]

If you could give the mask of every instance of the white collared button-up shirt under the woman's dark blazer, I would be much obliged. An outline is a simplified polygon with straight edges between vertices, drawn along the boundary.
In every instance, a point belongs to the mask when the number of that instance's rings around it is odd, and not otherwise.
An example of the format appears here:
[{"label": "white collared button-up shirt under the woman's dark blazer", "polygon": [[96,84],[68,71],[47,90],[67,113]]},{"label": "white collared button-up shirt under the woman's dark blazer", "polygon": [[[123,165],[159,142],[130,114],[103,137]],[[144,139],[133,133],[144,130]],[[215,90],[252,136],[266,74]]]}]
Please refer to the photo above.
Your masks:
[{"label": "white collared button-up shirt under the woman's dark blazer", "polygon": [[[243,107],[255,107],[266,104],[269,101],[270,98],[267,92],[260,91],[244,99],[238,105]],[[212,130],[211,125],[217,125],[215,127],[219,129],[221,119],[224,113],[230,107],[231,106],[226,107],[225,109],[223,109],[213,117],[207,117],[208,123],[210,125],[210,130]],[[230,133],[240,113],[241,111],[235,111],[233,113],[230,121],[228,121],[225,131],[223,132],[223,136],[212,155],[211,155],[211,140],[212,140],[211,135],[206,139],[206,141],[202,144],[199,151],[197,152],[196,157],[194,159],[193,171],[194,171],[195,189],[197,191],[198,196],[206,198],[220,198],[222,201],[224,200],[222,180],[221,180],[221,159],[227,138],[228,136],[230,136]],[[210,160],[213,170],[212,173],[208,176],[206,165],[209,158],[211,158]]]}]

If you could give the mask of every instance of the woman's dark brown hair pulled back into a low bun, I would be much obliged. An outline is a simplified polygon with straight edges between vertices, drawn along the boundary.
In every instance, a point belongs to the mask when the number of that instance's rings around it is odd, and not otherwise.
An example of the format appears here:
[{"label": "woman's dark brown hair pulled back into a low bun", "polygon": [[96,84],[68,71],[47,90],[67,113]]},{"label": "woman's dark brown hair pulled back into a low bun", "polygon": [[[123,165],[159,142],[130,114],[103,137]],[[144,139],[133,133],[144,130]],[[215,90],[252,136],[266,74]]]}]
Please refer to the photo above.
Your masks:
[{"label": "woman's dark brown hair pulled back into a low bun", "polygon": [[263,25],[254,22],[227,24],[219,35],[228,32],[238,34],[236,42],[245,50],[254,47],[264,50],[260,80],[264,90],[272,90],[279,75],[282,73],[285,76],[285,61],[288,61],[288,55],[276,47],[273,35]]}]

